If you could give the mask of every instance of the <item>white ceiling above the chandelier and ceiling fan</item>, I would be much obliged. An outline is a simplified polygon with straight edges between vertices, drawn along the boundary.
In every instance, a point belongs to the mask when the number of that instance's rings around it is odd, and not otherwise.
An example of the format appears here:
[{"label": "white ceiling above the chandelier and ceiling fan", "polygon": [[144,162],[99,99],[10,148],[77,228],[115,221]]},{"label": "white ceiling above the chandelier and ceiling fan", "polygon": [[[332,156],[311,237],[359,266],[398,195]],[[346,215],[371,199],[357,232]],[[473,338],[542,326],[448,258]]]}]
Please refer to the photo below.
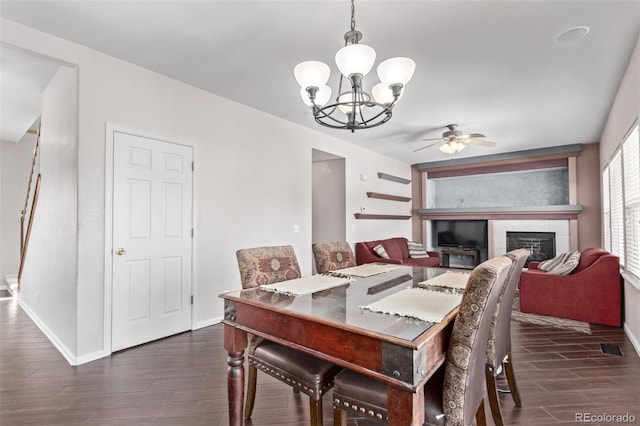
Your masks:
[{"label": "white ceiling above the chandelier and ceiling fan", "polygon": [[[337,90],[347,0],[1,0],[0,15],[410,164],[450,158],[413,152],[449,123],[497,144],[456,158],[597,142],[640,34],[640,0],[357,0],[376,65],[416,72],[389,123],[351,133],[315,124],[293,77],[320,60]],[[556,41],[576,26],[590,30]]]}]

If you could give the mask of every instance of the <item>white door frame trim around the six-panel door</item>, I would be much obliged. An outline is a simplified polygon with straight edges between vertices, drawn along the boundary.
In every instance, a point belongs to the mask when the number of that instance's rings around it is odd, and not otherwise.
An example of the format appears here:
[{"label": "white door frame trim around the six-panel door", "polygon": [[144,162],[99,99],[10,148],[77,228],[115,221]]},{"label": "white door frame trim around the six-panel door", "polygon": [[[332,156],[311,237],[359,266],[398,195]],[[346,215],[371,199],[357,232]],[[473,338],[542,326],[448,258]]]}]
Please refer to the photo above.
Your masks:
[{"label": "white door frame trim around the six-panel door", "polygon": [[[138,136],[153,139],[161,142],[172,143],[176,145],[187,146],[193,152],[193,164],[197,164],[197,151],[193,143],[185,143],[176,139],[167,138],[165,136],[157,136],[141,130],[131,129],[129,127],[118,126],[110,122],[105,123],[105,170],[104,170],[104,351],[105,356],[113,353],[112,350],[112,304],[113,304],[113,149],[115,133],[126,133],[132,136]],[[193,168],[191,175],[191,224],[193,228],[193,237],[191,238],[191,295],[193,303],[191,305],[191,330],[195,329],[196,324],[196,301],[198,300],[196,290],[196,211],[197,211],[197,168]]]}]

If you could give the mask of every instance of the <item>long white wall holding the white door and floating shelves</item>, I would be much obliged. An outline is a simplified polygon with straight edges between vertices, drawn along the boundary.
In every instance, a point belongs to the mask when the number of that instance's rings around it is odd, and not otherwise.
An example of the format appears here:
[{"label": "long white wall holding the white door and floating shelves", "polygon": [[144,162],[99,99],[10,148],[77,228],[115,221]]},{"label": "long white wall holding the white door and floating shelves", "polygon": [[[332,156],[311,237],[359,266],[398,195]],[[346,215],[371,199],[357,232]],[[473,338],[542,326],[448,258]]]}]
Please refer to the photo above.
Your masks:
[{"label": "long white wall holding the white door and floating shelves", "polygon": [[[239,248],[291,244],[303,274],[311,273],[314,148],[346,159],[348,241],[410,236],[410,221],[353,216],[361,206],[409,214],[408,206],[366,197],[366,191],[410,196],[409,185],[376,177],[385,172],[409,179],[408,164],[11,21],[2,20],[0,31],[7,43],[78,64],[78,267],[77,280],[66,286],[77,287],[80,361],[109,351],[103,335],[106,122],[196,146],[196,327],[217,322],[223,313],[217,295],[240,288]],[[367,181],[359,179],[362,173]]]}]

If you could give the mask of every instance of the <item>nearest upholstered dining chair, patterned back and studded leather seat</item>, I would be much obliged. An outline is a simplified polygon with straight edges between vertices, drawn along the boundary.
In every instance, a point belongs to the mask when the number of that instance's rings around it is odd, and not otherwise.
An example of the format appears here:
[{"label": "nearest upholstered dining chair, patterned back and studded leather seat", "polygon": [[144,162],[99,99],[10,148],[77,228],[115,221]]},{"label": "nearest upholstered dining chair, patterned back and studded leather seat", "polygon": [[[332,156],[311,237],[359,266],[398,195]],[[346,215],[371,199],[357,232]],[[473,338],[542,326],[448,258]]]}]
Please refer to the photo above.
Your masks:
[{"label": "nearest upholstered dining chair, patterned back and studded leather seat", "polygon": [[[496,257],[476,266],[455,318],[444,367],[424,388],[425,425],[485,425],[485,360],[489,326],[507,280],[511,260]],[[387,384],[351,370],[335,378],[335,425],[346,411],[387,422]]]}]

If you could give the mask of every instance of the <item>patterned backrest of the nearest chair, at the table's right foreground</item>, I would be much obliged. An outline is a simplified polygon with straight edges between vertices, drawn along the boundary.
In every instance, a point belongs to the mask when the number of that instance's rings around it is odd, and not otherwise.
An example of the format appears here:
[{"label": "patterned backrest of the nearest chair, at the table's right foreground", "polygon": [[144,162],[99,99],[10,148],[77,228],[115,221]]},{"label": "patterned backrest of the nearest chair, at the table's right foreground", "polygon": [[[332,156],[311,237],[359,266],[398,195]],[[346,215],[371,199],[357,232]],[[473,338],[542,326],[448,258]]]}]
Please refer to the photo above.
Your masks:
[{"label": "patterned backrest of the nearest chair, at the table's right foreground", "polygon": [[512,261],[496,257],[478,265],[456,316],[445,366],[442,405],[447,425],[470,425],[485,395],[489,326]]}]

